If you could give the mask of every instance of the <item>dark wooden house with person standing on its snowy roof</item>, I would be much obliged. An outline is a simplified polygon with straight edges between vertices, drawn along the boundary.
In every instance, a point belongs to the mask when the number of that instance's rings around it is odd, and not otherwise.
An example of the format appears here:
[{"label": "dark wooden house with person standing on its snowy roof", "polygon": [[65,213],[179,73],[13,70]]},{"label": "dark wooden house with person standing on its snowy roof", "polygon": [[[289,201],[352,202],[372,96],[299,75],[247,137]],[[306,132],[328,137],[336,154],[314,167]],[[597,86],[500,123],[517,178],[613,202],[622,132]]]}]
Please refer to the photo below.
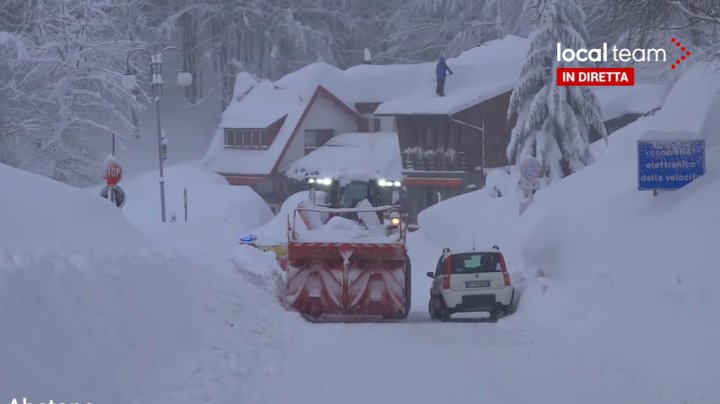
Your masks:
[{"label": "dark wooden house with person standing on its snowy roof", "polygon": [[490,168],[505,167],[510,94],[527,40],[507,36],[449,59],[445,96],[434,81],[378,106],[392,116],[403,166],[404,208],[411,222],[428,206],[484,185]]}]

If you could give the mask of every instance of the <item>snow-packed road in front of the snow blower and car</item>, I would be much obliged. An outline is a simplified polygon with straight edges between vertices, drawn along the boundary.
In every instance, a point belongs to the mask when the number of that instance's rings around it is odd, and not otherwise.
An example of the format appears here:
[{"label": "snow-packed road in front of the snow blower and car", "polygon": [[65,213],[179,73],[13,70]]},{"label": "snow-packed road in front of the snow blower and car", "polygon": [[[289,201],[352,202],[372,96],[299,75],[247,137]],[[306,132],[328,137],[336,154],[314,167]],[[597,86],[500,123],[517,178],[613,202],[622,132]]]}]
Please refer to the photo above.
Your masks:
[{"label": "snow-packed road in front of the snow blower and car", "polygon": [[429,279],[422,276],[433,269],[437,248],[421,237],[412,245],[413,310],[408,319],[304,324],[268,403],[507,402],[521,370],[503,364],[530,358],[533,338],[509,319],[492,324],[478,315],[451,323],[431,321],[426,309]]}]

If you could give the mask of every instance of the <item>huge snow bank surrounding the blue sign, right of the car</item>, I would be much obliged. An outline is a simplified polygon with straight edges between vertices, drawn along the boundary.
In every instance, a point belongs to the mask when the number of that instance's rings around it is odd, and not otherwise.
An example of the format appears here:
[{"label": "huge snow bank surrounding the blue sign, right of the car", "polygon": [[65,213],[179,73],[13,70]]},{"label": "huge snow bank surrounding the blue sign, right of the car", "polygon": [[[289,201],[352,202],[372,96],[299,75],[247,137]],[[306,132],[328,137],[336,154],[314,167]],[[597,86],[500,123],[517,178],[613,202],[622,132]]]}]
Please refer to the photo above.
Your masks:
[{"label": "huge snow bank surrounding the blue sign, right of the car", "polygon": [[[716,119],[720,76],[704,68],[690,69],[655,115],[616,132],[597,162],[539,191],[523,216],[516,199],[480,191],[420,216],[438,251],[450,242],[467,246],[473,234],[497,240],[515,266],[513,281],[526,285],[519,311],[502,323],[533,336],[537,348],[528,349],[529,360],[523,355],[520,374],[517,366],[512,372],[537,383],[506,391],[508,402],[544,396],[561,380],[580,384],[554,389],[556,402],[720,396],[712,371],[720,351],[710,349],[720,327],[708,321],[720,311],[713,286],[720,229],[710,225],[720,223],[720,148],[707,150],[707,173],[681,190],[656,197],[637,190],[637,140],[645,133],[715,137],[707,122]],[[465,220],[442,220],[448,217]],[[534,371],[546,368],[547,357],[552,371]]]}]

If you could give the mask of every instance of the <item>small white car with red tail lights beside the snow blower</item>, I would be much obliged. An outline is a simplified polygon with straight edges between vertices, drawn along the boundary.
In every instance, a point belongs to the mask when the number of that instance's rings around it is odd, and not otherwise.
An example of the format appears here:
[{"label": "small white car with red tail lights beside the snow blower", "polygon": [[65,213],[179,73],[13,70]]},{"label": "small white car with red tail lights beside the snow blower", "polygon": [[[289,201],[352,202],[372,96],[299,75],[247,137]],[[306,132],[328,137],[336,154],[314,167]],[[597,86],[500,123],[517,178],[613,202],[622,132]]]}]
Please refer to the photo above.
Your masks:
[{"label": "small white car with red tail lights beside the snow blower", "polygon": [[515,288],[497,246],[471,251],[445,248],[435,272],[427,276],[433,279],[428,304],[433,320],[448,321],[459,312],[488,312],[496,321],[514,311]]}]

